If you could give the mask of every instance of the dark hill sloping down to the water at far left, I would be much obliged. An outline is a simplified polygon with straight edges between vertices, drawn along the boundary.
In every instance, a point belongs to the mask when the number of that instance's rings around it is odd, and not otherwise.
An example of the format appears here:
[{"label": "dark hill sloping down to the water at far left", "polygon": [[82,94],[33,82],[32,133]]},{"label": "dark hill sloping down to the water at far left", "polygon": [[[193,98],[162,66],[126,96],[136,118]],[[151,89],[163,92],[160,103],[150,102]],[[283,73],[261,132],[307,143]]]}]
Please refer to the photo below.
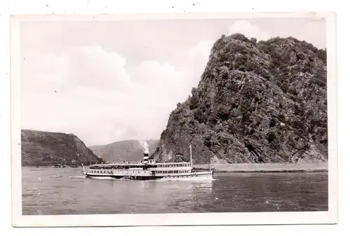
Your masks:
[{"label": "dark hill sloping down to the water at far left", "polygon": [[74,134],[22,130],[22,166],[101,163]]}]

